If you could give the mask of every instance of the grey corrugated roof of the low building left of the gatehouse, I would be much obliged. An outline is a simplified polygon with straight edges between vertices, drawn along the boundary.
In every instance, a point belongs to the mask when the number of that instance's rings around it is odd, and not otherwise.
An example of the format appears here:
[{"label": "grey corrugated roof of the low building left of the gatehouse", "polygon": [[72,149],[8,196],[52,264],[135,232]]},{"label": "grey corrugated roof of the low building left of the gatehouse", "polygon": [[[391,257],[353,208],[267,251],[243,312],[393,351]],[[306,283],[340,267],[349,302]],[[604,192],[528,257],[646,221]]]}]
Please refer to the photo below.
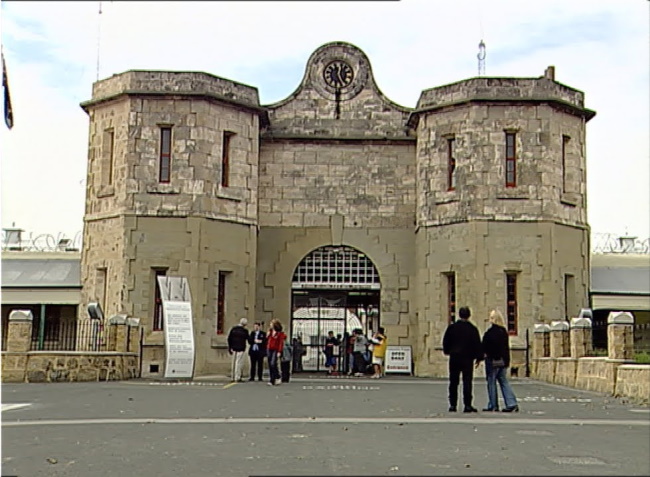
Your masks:
[{"label": "grey corrugated roof of the low building left of the gatehouse", "polygon": [[81,261],[69,259],[3,259],[3,288],[81,288]]}]

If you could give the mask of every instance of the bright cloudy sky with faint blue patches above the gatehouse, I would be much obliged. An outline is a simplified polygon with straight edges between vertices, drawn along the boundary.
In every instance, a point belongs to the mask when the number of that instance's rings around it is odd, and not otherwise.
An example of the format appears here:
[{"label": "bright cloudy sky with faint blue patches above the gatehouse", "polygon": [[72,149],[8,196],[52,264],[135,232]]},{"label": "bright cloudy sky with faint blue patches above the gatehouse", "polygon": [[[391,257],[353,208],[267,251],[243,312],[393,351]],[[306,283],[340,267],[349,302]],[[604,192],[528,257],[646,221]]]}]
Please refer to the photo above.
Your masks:
[{"label": "bright cloudy sky with faint blue patches above the gatehouse", "polygon": [[[129,69],[193,70],[291,94],[309,55],[347,41],[379,88],[414,107],[423,89],[477,75],[538,77],[584,91],[593,232],[650,237],[647,0],[2,2],[14,127],[0,125],[2,227],[83,227],[92,83]],[[101,19],[101,23],[100,23]],[[99,39],[99,40],[98,40]],[[99,48],[98,48],[99,45]],[[98,61],[99,51],[99,61]],[[98,74],[99,65],[99,74]]]}]

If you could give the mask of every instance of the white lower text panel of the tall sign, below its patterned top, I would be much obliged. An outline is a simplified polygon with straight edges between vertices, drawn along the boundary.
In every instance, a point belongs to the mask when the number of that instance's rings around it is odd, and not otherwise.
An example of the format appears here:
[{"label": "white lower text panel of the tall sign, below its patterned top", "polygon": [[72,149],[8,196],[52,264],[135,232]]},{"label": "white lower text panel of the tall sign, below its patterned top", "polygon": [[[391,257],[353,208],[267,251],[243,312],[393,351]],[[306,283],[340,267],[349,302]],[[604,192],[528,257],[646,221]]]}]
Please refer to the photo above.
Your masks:
[{"label": "white lower text panel of the tall sign, below its patterned top", "polygon": [[191,378],[194,374],[194,330],[189,301],[163,300],[165,377]]}]

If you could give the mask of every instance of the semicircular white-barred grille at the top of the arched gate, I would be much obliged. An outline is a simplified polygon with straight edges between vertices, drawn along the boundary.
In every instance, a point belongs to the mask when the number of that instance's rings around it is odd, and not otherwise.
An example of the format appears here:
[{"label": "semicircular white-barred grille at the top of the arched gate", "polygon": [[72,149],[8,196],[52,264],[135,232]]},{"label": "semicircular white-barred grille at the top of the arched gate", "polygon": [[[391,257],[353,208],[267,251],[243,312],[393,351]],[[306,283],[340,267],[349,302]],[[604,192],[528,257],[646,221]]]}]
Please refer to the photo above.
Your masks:
[{"label": "semicircular white-barred grille at the top of the arched gate", "polygon": [[292,288],[380,288],[379,273],[372,261],[350,247],[321,247],[300,262]]}]

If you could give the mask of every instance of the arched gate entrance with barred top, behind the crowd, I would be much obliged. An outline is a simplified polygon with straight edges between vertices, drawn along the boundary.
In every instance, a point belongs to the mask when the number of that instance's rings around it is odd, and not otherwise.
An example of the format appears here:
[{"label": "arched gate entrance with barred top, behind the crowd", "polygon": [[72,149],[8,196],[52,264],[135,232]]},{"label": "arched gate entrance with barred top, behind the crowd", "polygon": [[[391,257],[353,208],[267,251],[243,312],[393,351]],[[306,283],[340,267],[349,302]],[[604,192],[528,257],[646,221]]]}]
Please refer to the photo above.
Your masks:
[{"label": "arched gate entrance with barred top, behind the crowd", "polygon": [[346,369],[347,335],[379,327],[380,288],[377,268],[354,248],[326,246],[303,258],[291,282],[291,338],[300,339],[306,351],[304,371],[325,369],[322,349],[329,331],[340,336],[338,368]]}]

